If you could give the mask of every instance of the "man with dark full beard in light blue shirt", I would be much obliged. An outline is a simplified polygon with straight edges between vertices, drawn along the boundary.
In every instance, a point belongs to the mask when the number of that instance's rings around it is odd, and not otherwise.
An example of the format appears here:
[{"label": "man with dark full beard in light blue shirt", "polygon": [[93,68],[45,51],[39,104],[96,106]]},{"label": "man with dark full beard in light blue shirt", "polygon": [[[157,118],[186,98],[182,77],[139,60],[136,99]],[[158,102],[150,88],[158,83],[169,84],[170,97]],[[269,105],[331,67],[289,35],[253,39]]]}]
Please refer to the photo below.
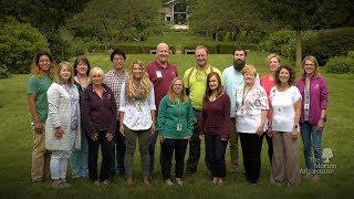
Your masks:
[{"label": "man with dark full beard in light blue shirt", "polygon": [[[247,51],[242,48],[236,48],[233,51],[233,65],[227,67],[222,72],[223,78],[223,88],[227,94],[230,96],[230,133],[229,133],[229,143],[230,143],[230,171],[236,171],[239,165],[239,136],[236,130],[236,113],[235,113],[235,103],[236,103],[236,88],[244,84],[241,70],[246,66],[246,56]],[[256,77],[256,83],[259,84],[259,75]]]}]

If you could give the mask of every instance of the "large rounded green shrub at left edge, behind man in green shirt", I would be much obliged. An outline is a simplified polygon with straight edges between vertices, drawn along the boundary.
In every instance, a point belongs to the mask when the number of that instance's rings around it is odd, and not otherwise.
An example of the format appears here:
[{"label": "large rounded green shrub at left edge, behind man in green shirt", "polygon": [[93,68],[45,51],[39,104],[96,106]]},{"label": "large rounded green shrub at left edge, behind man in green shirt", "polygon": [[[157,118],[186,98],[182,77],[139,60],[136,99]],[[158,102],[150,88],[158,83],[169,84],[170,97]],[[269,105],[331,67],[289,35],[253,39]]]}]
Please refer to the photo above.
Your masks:
[{"label": "large rounded green shrub at left edge, behind man in green shirt", "polygon": [[0,28],[1,71],[29,73],[33,56],[41,50],[49,51],[45,38],[28,23],[19,23],[8,18]]}]

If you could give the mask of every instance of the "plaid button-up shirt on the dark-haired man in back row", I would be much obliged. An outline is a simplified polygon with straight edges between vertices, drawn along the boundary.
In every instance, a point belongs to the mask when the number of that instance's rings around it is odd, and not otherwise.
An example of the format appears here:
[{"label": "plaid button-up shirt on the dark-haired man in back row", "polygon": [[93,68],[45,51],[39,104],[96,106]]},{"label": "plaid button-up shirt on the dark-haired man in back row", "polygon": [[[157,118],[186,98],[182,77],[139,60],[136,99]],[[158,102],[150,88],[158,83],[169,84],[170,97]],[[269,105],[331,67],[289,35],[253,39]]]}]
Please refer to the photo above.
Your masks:
[{"label": "plaid button-up shirt on the dark-haired man in back row", "polygon": [[121,87],[122,84],[125,83],[128,73],[123,71],[122,74],[117,74],[114,70],[111,70],[106,73],[104,83],[112,90],[117,109],[119,109],[119,95],[121,95]]}]

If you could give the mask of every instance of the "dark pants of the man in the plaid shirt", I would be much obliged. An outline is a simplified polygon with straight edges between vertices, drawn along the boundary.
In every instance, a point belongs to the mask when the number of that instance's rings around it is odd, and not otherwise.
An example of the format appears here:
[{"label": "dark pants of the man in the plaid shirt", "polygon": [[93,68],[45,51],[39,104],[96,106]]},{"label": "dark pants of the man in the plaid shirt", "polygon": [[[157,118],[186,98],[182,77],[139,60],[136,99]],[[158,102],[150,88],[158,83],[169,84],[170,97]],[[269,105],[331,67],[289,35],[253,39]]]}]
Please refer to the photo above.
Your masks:
[{"label": "dark pants of the man in the plaid shirt", "polygon": [[115,174],[124,175],[124,156],[125,156],[125,138],[119,132],[119,121],[117,122],[117,130],[115,135],[115,145],[113,146],[112,163],[110,165],[110,171],[114,176]]}]

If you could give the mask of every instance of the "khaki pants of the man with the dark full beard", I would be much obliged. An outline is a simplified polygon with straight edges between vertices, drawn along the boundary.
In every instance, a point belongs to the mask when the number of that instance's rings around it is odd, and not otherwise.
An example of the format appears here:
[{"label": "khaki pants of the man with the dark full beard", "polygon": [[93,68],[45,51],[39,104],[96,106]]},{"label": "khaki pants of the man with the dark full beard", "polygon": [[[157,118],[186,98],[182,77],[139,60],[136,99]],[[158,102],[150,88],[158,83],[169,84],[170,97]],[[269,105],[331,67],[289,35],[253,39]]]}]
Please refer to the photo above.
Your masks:
[{"label": "khaki pants of the man with the dark full beard", "polygon": [[235,117],[230,118],[230,134],[229,134],[229,143],[230,143],[230,159],[231,165],[239,165],[239,134],[236,130],[236,119]]}]

